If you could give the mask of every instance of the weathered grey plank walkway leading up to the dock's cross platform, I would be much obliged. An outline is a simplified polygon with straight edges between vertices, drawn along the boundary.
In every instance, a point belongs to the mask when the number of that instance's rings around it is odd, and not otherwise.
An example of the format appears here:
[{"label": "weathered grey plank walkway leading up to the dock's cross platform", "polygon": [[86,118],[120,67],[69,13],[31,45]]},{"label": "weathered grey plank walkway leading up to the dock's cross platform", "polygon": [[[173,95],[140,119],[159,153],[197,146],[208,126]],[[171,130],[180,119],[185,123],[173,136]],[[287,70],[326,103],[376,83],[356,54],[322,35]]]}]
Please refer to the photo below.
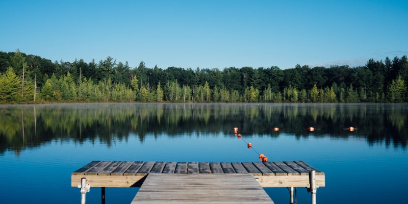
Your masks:
[{"label": "weathered grey plank walkway leading up to the dock's cross platform", "polygon": [[132,201],[133,204],[169,202],[273,203],[250,174],[150,173]]}]

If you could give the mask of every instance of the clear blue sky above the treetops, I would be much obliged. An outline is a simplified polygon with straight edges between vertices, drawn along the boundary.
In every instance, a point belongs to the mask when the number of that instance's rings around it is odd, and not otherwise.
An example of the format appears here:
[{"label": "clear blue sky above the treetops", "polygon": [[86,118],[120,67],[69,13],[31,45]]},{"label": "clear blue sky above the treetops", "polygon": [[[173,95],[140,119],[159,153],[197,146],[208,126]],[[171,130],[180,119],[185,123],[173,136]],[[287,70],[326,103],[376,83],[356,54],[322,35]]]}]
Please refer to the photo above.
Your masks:
[{"label": "clear blue sky above the treetops", "polygon": [[364,65],[408,55],[408,1],[0,1],[0,50],[131,67]]}]

